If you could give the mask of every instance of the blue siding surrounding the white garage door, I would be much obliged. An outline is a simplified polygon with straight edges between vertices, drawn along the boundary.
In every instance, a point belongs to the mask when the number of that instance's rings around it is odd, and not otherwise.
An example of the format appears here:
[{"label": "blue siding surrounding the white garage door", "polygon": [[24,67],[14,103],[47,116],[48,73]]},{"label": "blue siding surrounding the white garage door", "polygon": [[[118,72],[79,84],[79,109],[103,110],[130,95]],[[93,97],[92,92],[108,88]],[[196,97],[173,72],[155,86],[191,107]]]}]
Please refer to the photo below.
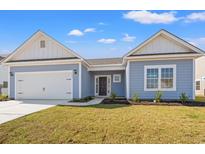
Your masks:
[{"label": "blue siding surrounding the white garage door", "polygon": [[15,73],[16,72],[65,71],[65,70],[74,70],[74,69],[77,70],[77,74],[73,75],[73,97],[79,98],[79,77],[78,77],[79,65],[78,64],[11,67],[10,72],[12,72],[14,76],[10,77],[10,97],[14,98],[15,96]]}]

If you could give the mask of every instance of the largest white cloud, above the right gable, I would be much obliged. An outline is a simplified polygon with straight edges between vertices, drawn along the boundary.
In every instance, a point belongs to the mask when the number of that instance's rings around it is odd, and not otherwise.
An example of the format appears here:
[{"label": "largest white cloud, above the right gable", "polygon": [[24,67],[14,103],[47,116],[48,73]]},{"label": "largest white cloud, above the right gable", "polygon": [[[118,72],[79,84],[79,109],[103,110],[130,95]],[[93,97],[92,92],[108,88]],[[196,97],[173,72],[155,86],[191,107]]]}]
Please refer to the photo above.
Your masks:
[{"label": "largest white cloud, above the right gable", "polygon": [[176,12],[153,13],[150,11],[130,11],[123,14],[123,17],[141,24],[170,24],[179,20],[175,15]]}]

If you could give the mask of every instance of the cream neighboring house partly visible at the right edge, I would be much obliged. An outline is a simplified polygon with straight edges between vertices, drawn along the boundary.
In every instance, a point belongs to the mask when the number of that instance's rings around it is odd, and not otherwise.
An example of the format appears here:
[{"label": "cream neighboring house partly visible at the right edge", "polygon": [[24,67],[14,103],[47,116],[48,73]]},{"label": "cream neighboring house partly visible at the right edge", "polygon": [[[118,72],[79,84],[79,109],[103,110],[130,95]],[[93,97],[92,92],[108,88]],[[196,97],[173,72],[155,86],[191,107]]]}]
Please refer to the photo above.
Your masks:
[{"label": "cream neighboring house partly visible at the right edge", "polygon": [[196,59],[196,95],[205,96],[205,56]]}]

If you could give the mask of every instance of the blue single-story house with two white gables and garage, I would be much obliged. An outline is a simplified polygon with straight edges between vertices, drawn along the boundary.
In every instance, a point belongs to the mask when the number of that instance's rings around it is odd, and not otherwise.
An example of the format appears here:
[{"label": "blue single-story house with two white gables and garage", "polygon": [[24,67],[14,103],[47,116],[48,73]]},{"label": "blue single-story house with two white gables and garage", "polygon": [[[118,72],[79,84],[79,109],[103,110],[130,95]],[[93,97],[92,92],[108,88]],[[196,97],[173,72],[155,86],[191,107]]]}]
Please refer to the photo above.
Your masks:
[{"label": "blue single-story house with two white gables and garage", "polygon": [[204,52],[160,30],[122,58],[84,59],[46,33],[37,31],[11,53],[8,94],[13,99],[73,99],[137,93],[153,99],[195,98],[195,59]]}]

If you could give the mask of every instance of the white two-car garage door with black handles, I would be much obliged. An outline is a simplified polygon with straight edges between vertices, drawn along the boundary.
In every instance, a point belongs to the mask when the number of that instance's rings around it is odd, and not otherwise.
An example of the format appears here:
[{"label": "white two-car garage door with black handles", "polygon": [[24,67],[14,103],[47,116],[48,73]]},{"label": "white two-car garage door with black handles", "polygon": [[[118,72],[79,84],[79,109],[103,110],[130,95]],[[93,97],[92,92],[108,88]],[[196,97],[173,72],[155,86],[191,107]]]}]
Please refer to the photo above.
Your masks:
[{"label": "white two-car garage door with black handles", "polygon": [[72,99],[72,72],[16,73],[16,99]]}]

